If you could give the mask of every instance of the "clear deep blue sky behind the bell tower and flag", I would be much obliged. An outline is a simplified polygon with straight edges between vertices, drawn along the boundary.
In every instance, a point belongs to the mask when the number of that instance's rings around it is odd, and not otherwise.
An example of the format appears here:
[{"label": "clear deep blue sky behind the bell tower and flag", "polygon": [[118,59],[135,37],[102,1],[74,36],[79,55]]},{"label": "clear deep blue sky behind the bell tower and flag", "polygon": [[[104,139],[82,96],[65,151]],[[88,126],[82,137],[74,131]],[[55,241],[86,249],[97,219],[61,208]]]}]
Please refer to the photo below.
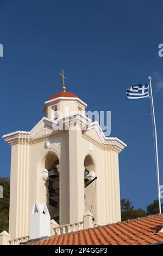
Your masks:
[{"label": "clear deep blue sky behind the bell tower and flag", "polygon": [[146,209],[157,197],[150,101],[128,101],[126,89],[153,77],[163,184],[162,9],[162,1],[0,0],[1,176],[10,174],[2,135],[32,129],[44,101],[60,92],[64,68],[68,90],[89,110],[111,111],[111,137],[128,144],[121,198]]}]

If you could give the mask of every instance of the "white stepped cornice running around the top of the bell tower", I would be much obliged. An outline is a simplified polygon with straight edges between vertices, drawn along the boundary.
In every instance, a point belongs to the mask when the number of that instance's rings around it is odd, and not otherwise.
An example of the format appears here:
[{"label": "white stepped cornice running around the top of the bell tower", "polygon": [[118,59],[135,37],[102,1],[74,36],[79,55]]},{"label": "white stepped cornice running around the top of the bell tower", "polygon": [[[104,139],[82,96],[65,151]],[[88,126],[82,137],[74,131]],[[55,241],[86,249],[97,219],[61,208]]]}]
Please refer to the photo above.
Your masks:
[{"label": "white stepped cornice running around the top of the bell tower", "polygon": [[[34,139],[35,135],[39,131],[41,131],[41,129],[45,126],[51,127],[53,129],[53,124],[54,123],[58,124],[60,120],[62,121],[63,124],[65,124],[65,130],[68,130],[67,127],[71,128],[71,126],[76,125],[80,127],[80,129],[82,129],[83,134],[87,136],[87,138],[89,136],[86,135],[86,132],[92,129],[95,129],[97,132],[97,135],[101,139],[101,143],[97,141],[96,143],[101,144],[101,147],[105,147],[106,150],[109,150],[110,148],[114,148],[114,149],[117,149],[118,152],[121,152],[125,147],[127,147],[127,145],[118,138],[105,137],[97,121],[92,123],[89,118],[87,118],[85,115],[82,115],[79,112],[73,113],[73,115],[70,115],[69,117],[61,118],[58,121],[53,121],[51,119],[43,117],[30,132],[16,131],[16,132],[12,132],[7,135],[4,135],[3,138],[10,145],[29,144],[29,143],[32,144],[34,142],[44,141],[45,139],[50,138],[51,135],[46,134],[41,136],[40,138]],[[58,133],[59,130],[56,132]],[[54,133],[52,134],[52,136],[54,136]],[[95,139],[92,139],[92,141],[95,141]]]}]

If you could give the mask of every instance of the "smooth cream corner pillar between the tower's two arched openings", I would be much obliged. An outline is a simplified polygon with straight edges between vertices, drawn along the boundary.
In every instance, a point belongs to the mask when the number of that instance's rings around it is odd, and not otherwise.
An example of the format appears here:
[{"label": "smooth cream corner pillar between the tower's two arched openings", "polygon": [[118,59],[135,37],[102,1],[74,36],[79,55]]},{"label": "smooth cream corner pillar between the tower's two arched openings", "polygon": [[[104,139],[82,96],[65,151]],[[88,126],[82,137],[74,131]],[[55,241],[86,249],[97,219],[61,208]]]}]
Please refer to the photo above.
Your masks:
[{"label": "smooth cream corner pillar between the tower's two arched openings", "polygon": [[82,221],[84,215],[82,130],[78,121],[71,121],[68,126],[70,223],[76,223]]}]

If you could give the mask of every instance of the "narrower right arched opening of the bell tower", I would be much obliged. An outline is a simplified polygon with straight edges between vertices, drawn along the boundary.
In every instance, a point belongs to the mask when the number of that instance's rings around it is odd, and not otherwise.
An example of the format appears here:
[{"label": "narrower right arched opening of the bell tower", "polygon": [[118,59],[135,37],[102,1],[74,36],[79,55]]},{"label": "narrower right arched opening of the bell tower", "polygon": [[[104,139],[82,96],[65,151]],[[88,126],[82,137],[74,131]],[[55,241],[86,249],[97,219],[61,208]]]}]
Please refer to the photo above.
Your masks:
[{"label": "narrower right arched opening of the bell tower", "polygon": [[84,160],[85,211],[89,210],[96,220],[96,168],[91,155]]}]

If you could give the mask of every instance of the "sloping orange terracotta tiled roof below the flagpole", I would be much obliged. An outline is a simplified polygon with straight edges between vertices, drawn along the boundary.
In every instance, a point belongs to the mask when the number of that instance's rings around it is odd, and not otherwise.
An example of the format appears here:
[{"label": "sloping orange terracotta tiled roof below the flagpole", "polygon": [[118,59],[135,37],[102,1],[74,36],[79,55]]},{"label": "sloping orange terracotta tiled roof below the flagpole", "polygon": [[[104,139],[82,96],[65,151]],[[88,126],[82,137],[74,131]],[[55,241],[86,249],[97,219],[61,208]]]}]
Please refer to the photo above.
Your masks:
[{"label": "sloping orange terracotta tiled roof below the flagpole", "polygon": [[158,214],[55,235],[28,245],[149,245],[163,243],[162,226],[163,214]]}]

